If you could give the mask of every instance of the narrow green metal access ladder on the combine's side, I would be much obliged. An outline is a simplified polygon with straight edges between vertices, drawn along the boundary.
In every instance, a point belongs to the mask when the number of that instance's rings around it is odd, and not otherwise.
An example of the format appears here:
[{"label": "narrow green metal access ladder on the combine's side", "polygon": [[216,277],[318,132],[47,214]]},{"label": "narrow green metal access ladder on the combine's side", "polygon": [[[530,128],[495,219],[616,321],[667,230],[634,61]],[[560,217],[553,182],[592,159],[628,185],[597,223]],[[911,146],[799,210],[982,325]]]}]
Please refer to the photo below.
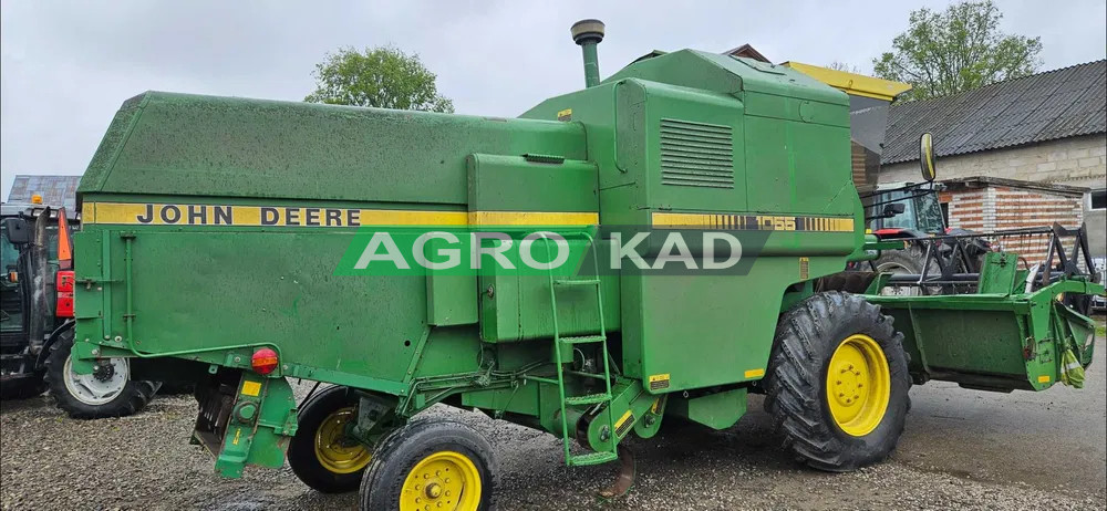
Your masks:
[{"label": "narrow green metal access ladder on the combine's side", "polygon": [[[597,269],[599,273],[599,251],[594,244],[592,236],[588,232],[582,232],[581,236],[588,241],[588,246],[591,247],[592,252],[592,263],[593,268]],[[542,234],[542,238],[547,240],[546,251],[547,258],[549,258],[549,243],[552,242],[549,238]],[[549,260],[549,259],[547,259]],[[586,466],[586,465],[600,465],[608,461],[613,461],[619,458],[618,449],[615,447],[615,425],[614,416],[611,414],[611,367],[609,364],[610,355],[608,354],[608,334],[603,323],[603,293],[600,290],[600,279],[597,274],[592,279],[556,279],[554,277],[554,270],[549,271],[549,282],[550,282],[550,313],[554,319],[554,354],[557,357],[557,386],[558,396],[560,397],[561,405],[561,441],[565,447],[565,460],[569,466]],[[580,288],[591,288],[596,292],[596,312],[600,320],[600,332],[597,335],[579,335],[579,336],[568,336],[561,335],[561,330],[558,326],[557,317],[557,300],[558,294],[566,292],[568,290],[580,289]],[[600,347],[600,358],[603,359],[603,373],[588,373],[580,371],[567,371],[565,364],[561,363],[563,359],[561,357],[562,350],[573,350],[578,344],[598,344]],[[580,396],[567,396],[565,390],[565,375],[566,373],[572,374],[575,376],[594,378],[603,380],[603,392],[599,394],[586,394]],[[608,431],[609,438],[611,438],[611,449],[588,452],[584,455],[573,455],[570,451],[571,440],[569,437],[569,420],[566,416],[566,409],[572,406],[596,406],[606,405],[608,407]]]}]

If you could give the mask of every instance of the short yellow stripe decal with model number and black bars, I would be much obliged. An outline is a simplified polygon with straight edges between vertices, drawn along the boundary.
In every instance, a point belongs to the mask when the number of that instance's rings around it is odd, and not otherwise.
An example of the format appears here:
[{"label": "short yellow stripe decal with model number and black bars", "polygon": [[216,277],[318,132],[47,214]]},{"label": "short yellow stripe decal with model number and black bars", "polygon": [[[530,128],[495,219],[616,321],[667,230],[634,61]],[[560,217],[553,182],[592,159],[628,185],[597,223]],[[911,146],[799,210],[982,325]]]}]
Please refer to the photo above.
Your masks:
[{"label": "short yellow stripe decal with model number and black bars", "polygon": [[654,212],[651,221],[661,229],[853,232],[853,219],[848,217]]}]

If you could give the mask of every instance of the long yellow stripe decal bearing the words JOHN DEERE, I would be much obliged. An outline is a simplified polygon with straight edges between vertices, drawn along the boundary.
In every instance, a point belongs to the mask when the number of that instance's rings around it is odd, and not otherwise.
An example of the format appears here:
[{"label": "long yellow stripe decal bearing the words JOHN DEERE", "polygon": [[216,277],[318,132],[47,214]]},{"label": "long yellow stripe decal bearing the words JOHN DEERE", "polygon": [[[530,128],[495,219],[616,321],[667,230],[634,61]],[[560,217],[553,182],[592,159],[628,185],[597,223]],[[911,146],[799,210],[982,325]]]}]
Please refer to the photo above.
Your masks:
[{"label": "long yellow stripe decal bearing the words JOHN DEERE", "polygon": [[592,226],[597,212],[426,211],[240,205],[85,202],[84,223],[125,226]]}]

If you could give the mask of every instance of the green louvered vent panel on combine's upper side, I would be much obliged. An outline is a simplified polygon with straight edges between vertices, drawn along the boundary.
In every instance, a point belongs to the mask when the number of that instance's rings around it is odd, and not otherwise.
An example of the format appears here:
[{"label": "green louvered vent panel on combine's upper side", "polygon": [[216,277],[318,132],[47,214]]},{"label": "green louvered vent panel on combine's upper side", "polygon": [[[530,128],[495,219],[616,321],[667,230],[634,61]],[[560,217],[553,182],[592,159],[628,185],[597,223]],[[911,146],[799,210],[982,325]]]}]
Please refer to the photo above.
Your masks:
[{"label": "green louvered vent panel on combine's upper side", "polygon": [[734,188],[734,140],[731,127],[661,119],[661,182]]}]

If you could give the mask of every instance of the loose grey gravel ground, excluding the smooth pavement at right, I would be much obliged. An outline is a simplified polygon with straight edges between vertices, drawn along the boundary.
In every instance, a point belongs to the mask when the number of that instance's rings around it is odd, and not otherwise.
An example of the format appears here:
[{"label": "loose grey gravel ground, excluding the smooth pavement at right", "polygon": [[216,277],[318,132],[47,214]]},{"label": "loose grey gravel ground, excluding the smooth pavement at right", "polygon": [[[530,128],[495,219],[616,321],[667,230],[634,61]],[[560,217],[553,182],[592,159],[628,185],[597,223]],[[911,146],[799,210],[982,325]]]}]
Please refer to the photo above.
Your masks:
[{"label": "loose grey gravel ground, excluding the smooth pavement at right", "polygon": [[[680,426],[639,441],[639,476],[623,498],[594,491],[614,469],[568,469],[550,435],[482,415],[435,408],[475,426],[496,447],[508,510],[547,509],[1103,509],[1104,490],[1035,488],[973,480],[891,460],[847,474],[803,469],[779,448],[759,399],[738,426]],[[162,397],[136,417],[77,421],[46,398],[4,403],[0,417],[3,509],[355,509],[353,496],[324,496],[288,468],[252,469],[224,480],[211,458],[187,442],[192,398]],[[909,419],[910,420],[910,419]],[[901,446],[901,449],[903,446]],[[1079,470],[1075,470],[1079,473]]]}]

